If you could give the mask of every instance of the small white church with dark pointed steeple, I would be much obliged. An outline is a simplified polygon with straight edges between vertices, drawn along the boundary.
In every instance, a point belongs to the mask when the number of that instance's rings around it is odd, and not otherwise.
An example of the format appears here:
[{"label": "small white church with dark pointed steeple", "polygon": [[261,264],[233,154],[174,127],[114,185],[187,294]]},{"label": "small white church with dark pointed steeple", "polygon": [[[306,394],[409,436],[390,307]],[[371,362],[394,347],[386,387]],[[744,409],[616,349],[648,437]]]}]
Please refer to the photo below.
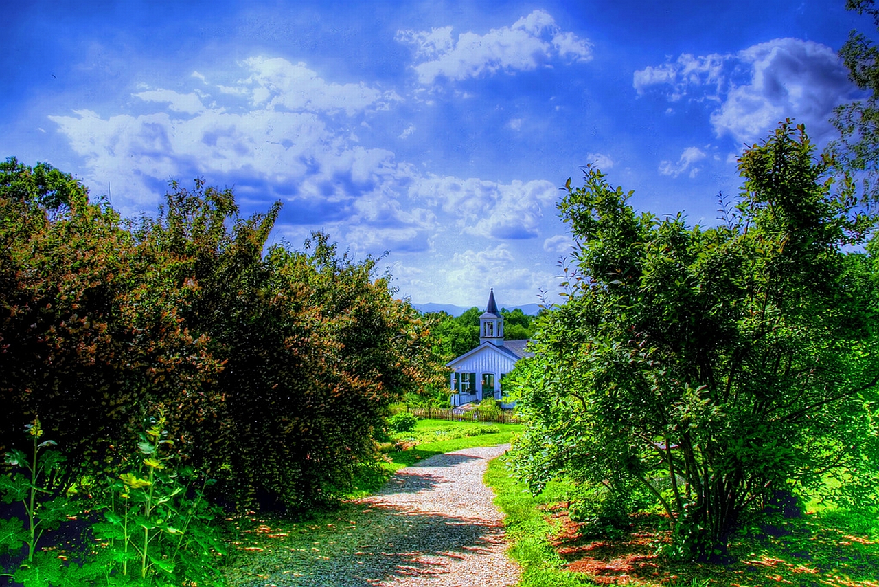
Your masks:
[{"label": "small white church with dark pointed steeple", "polygon": [[[501,400],[501,380],[521,358],[532,356],[527,340],[504,340],[504,317],[495,303],[494,290],[489,293],[485,313],[479,317],[479,346],[446,363],[452,369],[452,407],[487,398]],[[502,407],[512,404],[502,403]]]}]

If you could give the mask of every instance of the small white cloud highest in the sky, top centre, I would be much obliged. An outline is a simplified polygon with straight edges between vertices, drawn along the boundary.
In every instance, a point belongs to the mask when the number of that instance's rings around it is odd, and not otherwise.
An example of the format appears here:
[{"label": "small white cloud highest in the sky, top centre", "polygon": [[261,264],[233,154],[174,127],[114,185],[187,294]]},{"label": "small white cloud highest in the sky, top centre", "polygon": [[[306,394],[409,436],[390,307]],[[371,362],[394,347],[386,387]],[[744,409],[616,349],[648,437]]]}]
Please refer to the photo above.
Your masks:
[{"label": "small white cloud highest in the sky, top centre", "polygon": [[415,48],[421,84],[433,84],[439,77],[460,81],[498,71],[534,70],[556,59],[592,59],[592,43],[563,31],[545,11],[533,11],[489,33],[461,33],[457,40],[451,26],[398,31],[396,39]]}]

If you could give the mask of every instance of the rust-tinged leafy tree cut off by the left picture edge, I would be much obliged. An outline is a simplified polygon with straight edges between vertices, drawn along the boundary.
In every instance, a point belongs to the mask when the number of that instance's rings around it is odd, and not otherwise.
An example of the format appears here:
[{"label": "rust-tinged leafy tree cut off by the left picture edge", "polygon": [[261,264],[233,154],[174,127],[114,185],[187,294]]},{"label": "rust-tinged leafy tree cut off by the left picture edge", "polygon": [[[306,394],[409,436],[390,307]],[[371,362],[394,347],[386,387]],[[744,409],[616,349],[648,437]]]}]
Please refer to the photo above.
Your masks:
[{"label": "rust-tinged leafy tree cut off by the left picture edge", "polygon": [[200,355],[174,293],[144,293],[154,269],[133,252],[119,216],[68,173],[0,164],[0,451],[39,416],[67,458],[56,490],[117,459],[142,407],[177,393]]}]

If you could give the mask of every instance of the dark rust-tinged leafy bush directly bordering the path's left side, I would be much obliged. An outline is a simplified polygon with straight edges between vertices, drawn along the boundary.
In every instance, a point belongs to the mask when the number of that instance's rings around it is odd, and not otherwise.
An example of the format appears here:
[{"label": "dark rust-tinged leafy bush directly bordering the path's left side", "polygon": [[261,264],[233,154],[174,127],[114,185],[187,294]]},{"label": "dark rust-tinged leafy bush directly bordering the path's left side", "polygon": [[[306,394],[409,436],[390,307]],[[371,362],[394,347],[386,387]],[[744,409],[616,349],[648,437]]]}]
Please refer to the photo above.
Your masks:
[{"label": "dark rust-tinged leafy bush directly bordering the path's left side", "polygon": [[189,291],[187,331],[222,364],[175,399],[169,424],[238,508],[330,499],[373,459],[389,403],[439,373],[425,324],[376,260],[339,255],[321,233],[263,253],[278,209],[245,219],[229,190],[172,184],[137,231],[160,280]]}]

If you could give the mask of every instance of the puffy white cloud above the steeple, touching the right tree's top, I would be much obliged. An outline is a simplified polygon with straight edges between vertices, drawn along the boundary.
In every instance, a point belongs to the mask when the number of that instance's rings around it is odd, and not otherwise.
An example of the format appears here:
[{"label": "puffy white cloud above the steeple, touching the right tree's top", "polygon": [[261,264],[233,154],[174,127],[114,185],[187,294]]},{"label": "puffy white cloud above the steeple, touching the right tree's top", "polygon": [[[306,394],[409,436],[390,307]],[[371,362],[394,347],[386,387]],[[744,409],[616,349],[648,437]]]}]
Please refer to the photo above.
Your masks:
[{"label": "puffy white cloud above the steeple, touching the right tree's top", "polygon": [[556,201],[549,181],[501,184],[470,178],[427,176],[410,187],[410,198],[457,217],[461,231],[487,238],[534,238],[543,209]]}]

